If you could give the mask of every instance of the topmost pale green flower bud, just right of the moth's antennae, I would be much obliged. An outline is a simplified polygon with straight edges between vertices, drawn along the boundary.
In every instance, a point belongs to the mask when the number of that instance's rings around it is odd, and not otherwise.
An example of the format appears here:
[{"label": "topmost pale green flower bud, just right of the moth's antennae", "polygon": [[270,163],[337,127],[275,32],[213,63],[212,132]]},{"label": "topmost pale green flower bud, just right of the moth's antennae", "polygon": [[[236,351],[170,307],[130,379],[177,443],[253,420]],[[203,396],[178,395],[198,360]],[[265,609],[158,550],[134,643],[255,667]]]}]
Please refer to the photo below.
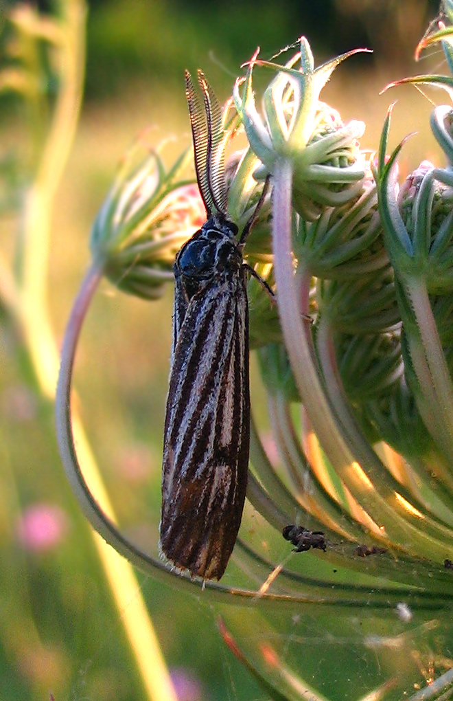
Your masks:
[{"label": "topmost pale green flower bud, just right of the moth's antennae", "polygon": [[[263,172],[274,173],[281,159],[291,161],[293,203],[306,219],[315,219],[325,206],[354,197],[365,175],[357,141],[365,125],[358,121],[343,125],[337,112],[319,100],[335,67],[354,53],[357,50],[314,69],[309,43],[302,37],[300,53],[284,66],[258,60],[257,51],[246,78],[237,79],[233,88],[237,111]],[[300,69],[294,68],[297,62]],[[255,66],[277,74],[263,94],[263,116],[252,89]]]}]

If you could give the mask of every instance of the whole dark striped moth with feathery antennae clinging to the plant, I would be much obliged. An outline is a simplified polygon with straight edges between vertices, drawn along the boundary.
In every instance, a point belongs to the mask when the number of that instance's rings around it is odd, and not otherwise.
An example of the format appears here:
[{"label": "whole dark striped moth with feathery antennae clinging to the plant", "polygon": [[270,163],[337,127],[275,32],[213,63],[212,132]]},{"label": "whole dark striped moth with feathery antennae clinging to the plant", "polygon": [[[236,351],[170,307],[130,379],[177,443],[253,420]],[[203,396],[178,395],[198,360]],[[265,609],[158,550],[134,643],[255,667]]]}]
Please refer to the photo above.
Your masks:
[{"label": "whole dark striped moth with feathery antennae clinging to the plant", "polygon": [[[222,111],[204,74],[186,72],[195,171],[207,222],[174,264],[160,549],[179,569],[220,579],[239,531],[249,463],[249,311],[242,250],[227,217]],[[256,273],[255,273],[256,274]]]}]

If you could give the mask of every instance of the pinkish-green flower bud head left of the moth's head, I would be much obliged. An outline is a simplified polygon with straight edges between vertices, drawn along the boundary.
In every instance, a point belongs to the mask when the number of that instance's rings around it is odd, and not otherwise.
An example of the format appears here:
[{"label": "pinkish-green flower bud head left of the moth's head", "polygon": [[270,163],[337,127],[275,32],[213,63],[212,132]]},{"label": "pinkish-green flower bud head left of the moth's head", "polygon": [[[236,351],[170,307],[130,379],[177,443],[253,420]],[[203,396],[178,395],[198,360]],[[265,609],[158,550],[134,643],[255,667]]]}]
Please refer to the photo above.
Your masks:
[{"label": "pinkish-green flower bud head left of the moth's head", "polygon": [[173,280],[176,253],[206,218],[197,186],[181,179],[181,158],[168,172],[158,153],[135,144],[97,215],[93,257],[120,290],[160,297]]}]

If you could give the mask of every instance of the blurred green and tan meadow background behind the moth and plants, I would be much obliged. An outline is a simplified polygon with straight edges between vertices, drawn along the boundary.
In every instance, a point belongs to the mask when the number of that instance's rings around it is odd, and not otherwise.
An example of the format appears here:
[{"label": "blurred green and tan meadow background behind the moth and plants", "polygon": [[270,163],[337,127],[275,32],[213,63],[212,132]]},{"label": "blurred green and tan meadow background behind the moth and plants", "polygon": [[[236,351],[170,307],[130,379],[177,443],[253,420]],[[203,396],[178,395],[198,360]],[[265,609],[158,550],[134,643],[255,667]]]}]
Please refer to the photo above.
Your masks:
[{"label": "blurred green and tan meadow background behind the moth and plants", "polygon": [[[12,5],[0,2],[4,33]],[[54,6],[39,8],[51,13]],[[48,284],[57,338],[89,264],[90,226],[125,149],[148,125],[156,144],[174,137],[170,159],[189,144],[185,68],[202,67],[223,100],[256,46],[268,58],[305,34],[316,64],[368,46],[375,53],[342,65],[323,100],[344,121],[365,121],[362,143],[376,149],[386,108],[398,97],[392,145],[408,131],[424,133],[414,140],[413,162],[403,158],[409,168],[421,158],[435,161],[435,144],[425,137],[431,104],[412,88],[378,93],[389,81],[424,72],[413,50],[437,11],[438,3],[427,0],[90,2],[85,102],[53,212]],[[6,175],[11,159],[23,165],[29,157],[24,124],[23,107],[2,95]],[[0,185],[0,245],[13,265],[20,197],[11,199],[11,180]],[[64,477],[52,409],[29,381],[18,329],[0,314],[0,698],[48,699],[50,692],[55,701],[145,698],[90,526]],[[158,538],[171,317],[171,289],[153,304],[104,283],[76,366],[78,404],[120,523],[150,550]],[[209,599],[138,578],[181,701],[267,698],[225,648]]]}]

